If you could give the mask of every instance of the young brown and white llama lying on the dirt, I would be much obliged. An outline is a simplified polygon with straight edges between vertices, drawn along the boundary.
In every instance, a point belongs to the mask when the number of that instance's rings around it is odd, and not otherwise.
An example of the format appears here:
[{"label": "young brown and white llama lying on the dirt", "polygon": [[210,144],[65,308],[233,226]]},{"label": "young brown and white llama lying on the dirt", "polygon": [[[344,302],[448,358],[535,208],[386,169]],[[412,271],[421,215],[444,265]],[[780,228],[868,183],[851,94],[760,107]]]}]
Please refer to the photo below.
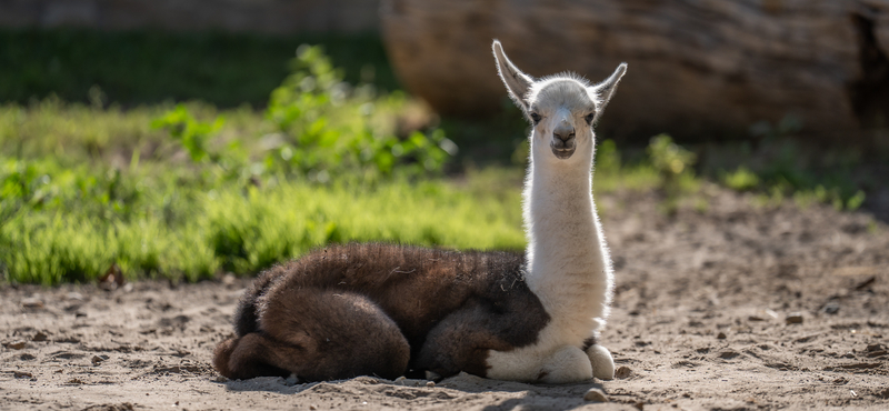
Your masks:
[{"label": "young brown and white llama lying on the dirt", "polygon": [[592,200],[593,123],[627,70],[589,84],[535,80],[495,40],[498,72],[533,124],[525,254],[343,244],[262,272],[213,365],[228,378],[303,381],[460,371],[566,383],[615,374],[597,342],[612,270]]}]

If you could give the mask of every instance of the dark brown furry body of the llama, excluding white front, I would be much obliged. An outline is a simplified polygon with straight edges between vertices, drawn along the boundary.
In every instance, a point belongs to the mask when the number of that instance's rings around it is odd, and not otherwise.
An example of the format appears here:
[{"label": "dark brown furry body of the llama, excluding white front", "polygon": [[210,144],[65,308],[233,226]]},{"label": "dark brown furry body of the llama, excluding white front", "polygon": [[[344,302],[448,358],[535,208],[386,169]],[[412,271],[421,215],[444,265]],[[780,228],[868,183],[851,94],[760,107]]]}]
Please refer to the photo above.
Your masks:
[{"label": "dark brown furry body of the llama, excluding white front", "polygon": [[261,273],[213,364],[228,377],[333,380],[485,375],[488,351],[532,344],[549,321],[525,258],[392,244],[317,250]]}]

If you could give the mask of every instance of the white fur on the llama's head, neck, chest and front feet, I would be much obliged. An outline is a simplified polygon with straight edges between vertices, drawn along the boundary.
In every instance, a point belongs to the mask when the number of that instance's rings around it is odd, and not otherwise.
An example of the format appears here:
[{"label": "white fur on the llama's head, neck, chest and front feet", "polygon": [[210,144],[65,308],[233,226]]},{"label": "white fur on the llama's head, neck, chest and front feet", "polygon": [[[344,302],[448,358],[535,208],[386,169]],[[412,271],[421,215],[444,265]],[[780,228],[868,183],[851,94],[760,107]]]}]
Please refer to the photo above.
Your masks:
[{"label": "white fur on the llama's head, neck, chest and front feet", "polygon": [[[536,81],[516,68],[495,40],[498,71],[510,97],[529,120],[539,117],[530,139],[530,167],[525,186],[529,288],[551,317],[538,343],[488,357],[488,377],[563,383],[615,375],[611,353],[585,340],[598,337],[608,318],[613,273],[592,199],[592,130],[626,63],[602,83],[590,86],[573,74]],[[587,121],[592,114],[593,121]],[[575,151],[558,158],[553,130],[572,127]]]}]

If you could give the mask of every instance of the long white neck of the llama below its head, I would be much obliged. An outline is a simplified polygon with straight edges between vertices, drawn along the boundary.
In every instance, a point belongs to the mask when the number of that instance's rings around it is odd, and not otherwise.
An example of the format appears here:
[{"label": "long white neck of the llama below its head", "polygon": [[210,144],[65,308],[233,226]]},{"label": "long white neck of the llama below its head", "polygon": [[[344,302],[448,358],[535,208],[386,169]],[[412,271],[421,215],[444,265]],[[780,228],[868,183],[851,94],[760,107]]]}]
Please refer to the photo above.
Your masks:
[{"label": "long white neck of the llama below its head", "polygon": [[590,295],[606,293],[610,264],[589,164],[532,161],[525,189],[527,279],[550,312],[603,317]]}]

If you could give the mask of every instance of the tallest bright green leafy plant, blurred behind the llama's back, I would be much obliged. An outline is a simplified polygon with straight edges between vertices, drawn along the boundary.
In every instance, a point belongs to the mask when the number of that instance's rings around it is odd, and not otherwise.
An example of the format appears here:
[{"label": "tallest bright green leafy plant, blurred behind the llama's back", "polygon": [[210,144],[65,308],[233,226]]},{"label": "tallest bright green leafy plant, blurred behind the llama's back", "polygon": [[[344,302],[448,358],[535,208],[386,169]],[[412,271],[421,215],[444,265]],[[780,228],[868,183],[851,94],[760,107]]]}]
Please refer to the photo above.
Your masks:
[{"label": "tallest bright green leafy plant, blurred behind the llama's back", "polygon": [[441,170],[448,158],[441,147],[453,146],[441,130],[398,138],[374,123],[377,108],[402,106],[402,94],[376,98],[367,86],[352,89],[320,47],[301,46],[292,66],[266,111],[282,140],[270,163],[321,182],[344,174],[373,180],[397,169],[409,176]]}]

